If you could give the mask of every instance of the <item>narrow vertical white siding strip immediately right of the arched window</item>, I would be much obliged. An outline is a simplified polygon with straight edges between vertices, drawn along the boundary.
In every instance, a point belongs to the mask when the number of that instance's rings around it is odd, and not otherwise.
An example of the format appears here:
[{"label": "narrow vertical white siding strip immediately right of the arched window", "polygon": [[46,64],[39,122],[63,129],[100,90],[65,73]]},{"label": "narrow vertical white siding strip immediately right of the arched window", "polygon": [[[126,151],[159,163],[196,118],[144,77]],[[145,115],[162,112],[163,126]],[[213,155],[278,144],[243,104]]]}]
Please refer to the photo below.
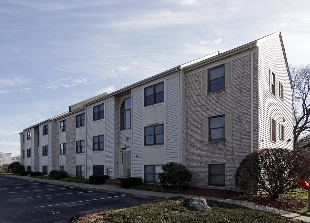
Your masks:
[{"label": "narrow vertical white siding strip immediately right of the arched window", "polygon": [[144,89],[132,92],[132,154],[136,157],[132,160],[133,177],[142,176],[142,145],[144,145],[143,136],[143,108],[144,108]]}]

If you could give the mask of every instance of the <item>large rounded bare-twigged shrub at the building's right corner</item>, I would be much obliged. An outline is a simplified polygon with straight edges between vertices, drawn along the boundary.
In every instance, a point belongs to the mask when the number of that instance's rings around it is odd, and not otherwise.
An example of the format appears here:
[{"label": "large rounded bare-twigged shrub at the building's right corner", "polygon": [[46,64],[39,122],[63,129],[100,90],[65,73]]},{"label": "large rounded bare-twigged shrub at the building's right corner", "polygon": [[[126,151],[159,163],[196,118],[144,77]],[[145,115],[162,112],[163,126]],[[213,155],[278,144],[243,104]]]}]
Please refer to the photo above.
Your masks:
[{"label": "large rounded bare-twigged shrub at the building's right corner", "polygon": [[301,190],[299,180],[308,181],[310,160],[296,151],[268,148],[254,151],[240,163],[235,182],[240,190],[269,194],[277,199],[283,193]]}]

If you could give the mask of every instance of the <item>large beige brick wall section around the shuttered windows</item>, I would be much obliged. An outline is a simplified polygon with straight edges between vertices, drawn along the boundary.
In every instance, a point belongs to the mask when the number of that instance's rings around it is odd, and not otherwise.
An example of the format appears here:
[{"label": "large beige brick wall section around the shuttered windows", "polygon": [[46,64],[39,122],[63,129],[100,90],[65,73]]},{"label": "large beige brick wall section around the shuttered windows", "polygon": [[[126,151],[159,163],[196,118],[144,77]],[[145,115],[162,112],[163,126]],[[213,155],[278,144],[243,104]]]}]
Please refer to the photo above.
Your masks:
[{"label": "large beige brick wall section around the shuttered windows", "polygon": [[[191,185],[208,186],[209,164],[225,164],[225,188],[235,188],[235,171],[251,152],[250,60],[250,54],[232,60],[232,87],[224,91],[201,93],[201,72],[186,77],[186,166],[193,173]],[[256,77],[254,82],[257,80]],[[232,114],[232,139],[202,141],[201,120],[224,114]],[[255,140],[257,123],[258,117],[255,120]]]}]

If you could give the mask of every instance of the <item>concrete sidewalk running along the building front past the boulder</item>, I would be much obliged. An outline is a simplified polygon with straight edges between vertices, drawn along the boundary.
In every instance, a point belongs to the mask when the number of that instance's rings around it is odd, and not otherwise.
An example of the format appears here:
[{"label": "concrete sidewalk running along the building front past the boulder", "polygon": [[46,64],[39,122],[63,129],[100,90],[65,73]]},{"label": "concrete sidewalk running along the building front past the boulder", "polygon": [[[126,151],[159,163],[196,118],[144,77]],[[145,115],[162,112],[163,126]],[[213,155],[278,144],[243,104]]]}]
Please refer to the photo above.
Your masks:
[{"label": "concrete sidewalk running along the building front past the boulder", "polygon": [[[170,194],[170,193],[154,192],[154,191],[147,191],[147,190],[126,189],[126,188],[121,188],[119,186],[106,185],[106,184],[100,184],[100,185],[82,184],[82,183],[73,183],[73,182],[66,182],[66,181],[39,179],[39,178],[34,178],[34,177],[29,177],[29,176],[15,176],[15,175],[3,175],[3,176],[30,180],[30,181],[44,182],[48,184],[56,184],[56,185],[62,185],[62,186],[68,186],[68,187],[82,188],[86,190],[95,190],[95,191],[100,191],[100,192],[110,193],[110,194],[121,194],[121,195],[141,197],[141,198],[150,198],[150,199],[163,199],[163,198],[170,198],[170,197],[175,197],[175,196],[182,196],[185,198],[193,197],[193,195],[188,195],[188,194]],[[308,216],[284,211],[284,210],[273,208],[273,207],[267,207],[264,205],[259,205],[259,204],[255,204],[255,203],[251,203],[247,201],[223,199],[223,198],[212,198],[212,197],[203,197],[203,198],[205,198],[206,200],[215,200],[219,202],[237,204],[237,205],[248,207],[254,210],[272,212],[272,213],[275,213],[275,214],[278,214],[284,217],[292,218],[295,220],[310,222],[310,217]]]}]

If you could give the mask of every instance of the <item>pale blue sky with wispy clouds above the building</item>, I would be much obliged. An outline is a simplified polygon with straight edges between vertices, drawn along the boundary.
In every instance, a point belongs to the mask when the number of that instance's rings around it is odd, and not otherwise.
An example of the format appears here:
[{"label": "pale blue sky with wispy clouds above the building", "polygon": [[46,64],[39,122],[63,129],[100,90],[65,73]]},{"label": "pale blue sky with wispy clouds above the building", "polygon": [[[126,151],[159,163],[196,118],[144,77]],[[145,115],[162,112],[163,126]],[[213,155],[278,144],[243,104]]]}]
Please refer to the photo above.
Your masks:
[{"label": "pale blue sky with wispy clouds above the building", "polygon": [[281,31],[310,63],[309,0],[1,0],[0,152],[69,106]]}]

